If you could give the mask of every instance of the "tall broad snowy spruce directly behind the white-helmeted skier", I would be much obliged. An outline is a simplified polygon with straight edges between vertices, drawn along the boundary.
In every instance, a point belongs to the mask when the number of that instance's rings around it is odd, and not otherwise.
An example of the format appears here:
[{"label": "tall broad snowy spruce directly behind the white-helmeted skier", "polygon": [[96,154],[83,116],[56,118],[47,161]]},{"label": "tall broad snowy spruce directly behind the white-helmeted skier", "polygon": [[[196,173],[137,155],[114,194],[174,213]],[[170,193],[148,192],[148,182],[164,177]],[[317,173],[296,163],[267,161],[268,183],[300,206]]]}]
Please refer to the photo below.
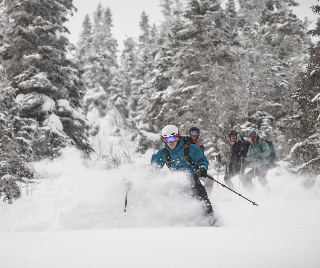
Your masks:
[{"label": "tall broad snowy spruce directly behind the white-helmeted skier", "polygon": [[237,60],[230,47],[233,29],[215,1],[190,1],[184,16],[186,21],[175,21],[167,47],[158,52],[162,57],[157,59],[158,74],[152,81],[156,92],[151,96],[149,120],[159,128],[176,124],[184,134],[198,126],[204,142],[211,142],[217,129],[213,116],[223,109],[215,107],[219,102],[213,94],[223,93],[224,77]]}]

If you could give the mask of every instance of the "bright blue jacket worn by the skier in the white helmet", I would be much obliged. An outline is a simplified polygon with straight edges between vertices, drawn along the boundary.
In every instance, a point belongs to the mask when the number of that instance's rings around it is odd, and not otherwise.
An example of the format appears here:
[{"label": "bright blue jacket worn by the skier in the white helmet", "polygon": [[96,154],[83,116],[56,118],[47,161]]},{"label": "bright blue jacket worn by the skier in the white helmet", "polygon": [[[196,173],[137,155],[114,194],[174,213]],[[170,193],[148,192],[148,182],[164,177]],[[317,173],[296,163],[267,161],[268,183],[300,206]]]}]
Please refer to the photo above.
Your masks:
[{"label": "bright blue jacket worn by the skier in the white helmet", "polygon": [[[171,163],[173,170],[176,169],[177,171],[178,170],[185,171],[188,173],[190,177],[196,174],[197,170],[193,165],[188,164],[185,158],[180,159],[184,157],[184,152],[183,152],[184,143],[182,139],[180,139],[180,143],[174,149],[170,149],[166,144],[164,147],[169,150],[171,159],[173,160],[173,162]],[[208,170],[209,162],[205,157],[204,153],[195,144],[190,144],[190,156],[196,165],[198,165],[199,167],[204,167],[205,169]],[[177,160],[177,159],[180,159],[180,160]],[[162,148],[152,157],[151,165],[156,165],[158,166],[159,169],[161,169],[163,168],[164,164],[168,166],[167,159],[165,158],[165,155],[164,155],[164,148]]]}]

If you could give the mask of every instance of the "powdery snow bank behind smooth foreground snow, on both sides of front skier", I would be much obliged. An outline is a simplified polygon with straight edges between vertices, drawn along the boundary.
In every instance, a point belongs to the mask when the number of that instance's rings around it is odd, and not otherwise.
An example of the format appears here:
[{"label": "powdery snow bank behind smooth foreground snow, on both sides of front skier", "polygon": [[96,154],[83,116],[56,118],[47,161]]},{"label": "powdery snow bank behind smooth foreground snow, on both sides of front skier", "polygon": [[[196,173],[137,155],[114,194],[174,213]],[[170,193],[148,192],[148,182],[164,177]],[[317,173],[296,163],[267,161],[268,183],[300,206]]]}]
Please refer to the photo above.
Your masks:
[{"label": "powdery snow bank behind smooth foreground snow, on both sides of front skier", "polygon": [[[199,215],[202,204],[180,193],[188,184],[187,178],[169,173],[168,169],[152,173],[148,166],[151,154],[148,151],[136,156],[134,163],[110,170],[85,160],[74,148],[64,149],[54,161],[36,163],[38,185],[13,205],[0,206],[0,230],[203,226]],[[269,193],[258,182],[255,193],[245,192],[241,185],[236,189],[259,207],[226,188],[217,189],[214,184],[209,196],[219,219],[217,225],[320,226],[319,181],[307,189],[301,178],[292,177],[283,168],[270,170],[267,179]],[[132,189],[128,194],[127,213],[124,213],[126,181],[131,182]],[[239,187],[237,177],[233,182]]]}]

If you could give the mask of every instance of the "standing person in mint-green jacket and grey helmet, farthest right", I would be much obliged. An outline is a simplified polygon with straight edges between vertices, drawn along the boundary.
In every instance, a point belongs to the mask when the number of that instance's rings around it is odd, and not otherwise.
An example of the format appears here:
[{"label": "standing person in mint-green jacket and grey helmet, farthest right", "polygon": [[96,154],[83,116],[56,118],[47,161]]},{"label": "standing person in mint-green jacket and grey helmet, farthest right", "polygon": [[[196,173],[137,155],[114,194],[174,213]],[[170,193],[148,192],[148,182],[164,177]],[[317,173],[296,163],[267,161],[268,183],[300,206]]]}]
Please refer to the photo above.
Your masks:
[{"label": "standing person in mint-green jacket and grey helmet, farthest right", "polygon": [[[247,156],[244,158],[246,161],[252,163],[252,169],[245,174],[243,178],[243,186],[248,189],[254,187],[252,178],[258,176],[258,180],[263,187],[269,190],[268,181],[266,179],[267,172],[270,167],[268,156],[270,155],[270,149],[268,143],[264,141],[264,138],[259,137],[256,130],[251,130],[248,133],[248,138],[251,141]],[[255,162],[255,163],[254,163]]]}]

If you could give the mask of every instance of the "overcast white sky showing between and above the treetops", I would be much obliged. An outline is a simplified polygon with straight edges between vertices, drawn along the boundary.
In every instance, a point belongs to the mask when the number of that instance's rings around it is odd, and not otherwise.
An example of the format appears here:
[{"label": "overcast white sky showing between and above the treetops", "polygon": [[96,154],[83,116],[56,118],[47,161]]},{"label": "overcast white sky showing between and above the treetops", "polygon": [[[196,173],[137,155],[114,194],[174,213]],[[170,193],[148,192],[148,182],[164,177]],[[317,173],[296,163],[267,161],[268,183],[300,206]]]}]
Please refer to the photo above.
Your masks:
[{"label": "overcast white sky showing between and above the treetops", "polygon": [[[149,15],[149,22],[152,25],[154,22],[159,25],[163,20],[162,13],[159,7],[159,0],[73,0],[73,4],[78,9],[73,17],[69,17],[66,27],[69,29],[71,35],[69,40],[71,43],[78,42],[79,33],[81,32],[82,22],[84,16],[88,13],[92,18],[92,13],[96,10],[97,5],[101,2],[103,7],[109,7],[112,12],[113,37],[118,40],[118,50],[123,49],[123,40],[127,36],[138,37],[140,35],[140,15],[144,10]],[[225,8],[227,0],[223,0],[221,6]],[[312,13],[310,6],[317,4],[317,0],[296,0],[300,3],[299,7],[293,7],[293,12],[297,14],[298,18],[303,20],[308,17],[313,23],[309,29],[315,28],[316,15]],[[316,42],[317,38],[312,38]]]}]

